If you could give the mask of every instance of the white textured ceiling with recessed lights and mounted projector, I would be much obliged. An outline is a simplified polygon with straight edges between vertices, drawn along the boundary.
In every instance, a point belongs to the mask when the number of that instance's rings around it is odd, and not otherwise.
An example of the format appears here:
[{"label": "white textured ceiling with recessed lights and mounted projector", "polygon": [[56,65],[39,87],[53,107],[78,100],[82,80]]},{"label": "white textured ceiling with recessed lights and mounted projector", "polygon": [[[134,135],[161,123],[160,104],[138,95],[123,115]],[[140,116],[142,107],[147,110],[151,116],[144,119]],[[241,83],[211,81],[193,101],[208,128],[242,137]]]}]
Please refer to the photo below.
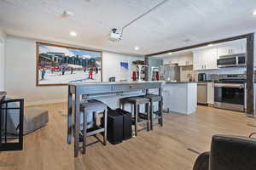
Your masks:
[{"label": "white textured ceiling with recessed lights and mounted projector", "polygon": [[[161,1],[0,0],[0,28],[10,35],[124,54],[151,54],[256,31],[256,0],[169,0],[127,27],[122,41],[108,41],[113,27],[125,26]],[[64,10],[73,16],[61,18]],[[70,37],[70,31],[78,37]]]}]

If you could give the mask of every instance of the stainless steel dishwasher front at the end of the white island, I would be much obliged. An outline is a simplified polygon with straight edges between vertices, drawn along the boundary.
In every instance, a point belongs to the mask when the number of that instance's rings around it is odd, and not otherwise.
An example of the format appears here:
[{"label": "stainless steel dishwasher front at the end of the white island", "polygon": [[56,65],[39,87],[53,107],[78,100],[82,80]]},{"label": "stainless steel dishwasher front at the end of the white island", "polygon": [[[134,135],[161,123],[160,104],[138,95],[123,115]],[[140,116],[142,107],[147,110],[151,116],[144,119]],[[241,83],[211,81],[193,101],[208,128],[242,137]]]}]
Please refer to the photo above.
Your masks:
[{"label": "stainless steel dishwasher front at the end of the white island", "polygon": [[207,105],[207,82],[197,83],[197,103]]}]

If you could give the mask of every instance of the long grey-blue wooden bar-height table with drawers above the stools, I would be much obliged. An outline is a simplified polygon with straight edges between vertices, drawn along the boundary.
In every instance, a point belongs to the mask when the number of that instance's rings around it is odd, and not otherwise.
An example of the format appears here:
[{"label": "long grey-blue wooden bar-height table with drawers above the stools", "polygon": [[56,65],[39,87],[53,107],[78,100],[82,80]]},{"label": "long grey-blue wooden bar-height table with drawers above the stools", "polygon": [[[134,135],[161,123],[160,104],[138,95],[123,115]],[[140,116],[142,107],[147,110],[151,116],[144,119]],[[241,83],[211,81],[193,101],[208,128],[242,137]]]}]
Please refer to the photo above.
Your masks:
[{"label": "long grey-blue wooden bar-height table with drawers above the stools", "polygon": [[[72,139],[72,116],[74,120],[74,156],[79,156],[79,127],[80,127],[80,102],[82,98],[91,99],[95,96],[121,95],[123,92],[144,90],[148,94],[148,89],[159,89],[162,96],[163,82],[74,82],[68,84],[68,122],[67,122],[67,143]],[[159,104],[160,114],[162,113],[162,101]],[[162,117],[160,116],[162,123]]]}]

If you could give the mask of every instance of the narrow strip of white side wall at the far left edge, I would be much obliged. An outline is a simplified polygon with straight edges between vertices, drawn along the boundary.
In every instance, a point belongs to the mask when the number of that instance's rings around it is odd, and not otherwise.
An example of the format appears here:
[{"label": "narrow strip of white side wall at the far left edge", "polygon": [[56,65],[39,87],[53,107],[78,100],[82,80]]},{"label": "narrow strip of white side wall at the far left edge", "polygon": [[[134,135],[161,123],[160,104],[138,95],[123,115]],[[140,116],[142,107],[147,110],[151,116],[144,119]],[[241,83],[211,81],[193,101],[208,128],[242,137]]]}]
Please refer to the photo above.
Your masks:
[{"label": "narrow strip of white side wall at the far left edge", "polygon": [[5,65],[4,65],[4,45],[5,45],[5,34],[0,30],[0,91],[4,91],[4,75],[5,75]]}]

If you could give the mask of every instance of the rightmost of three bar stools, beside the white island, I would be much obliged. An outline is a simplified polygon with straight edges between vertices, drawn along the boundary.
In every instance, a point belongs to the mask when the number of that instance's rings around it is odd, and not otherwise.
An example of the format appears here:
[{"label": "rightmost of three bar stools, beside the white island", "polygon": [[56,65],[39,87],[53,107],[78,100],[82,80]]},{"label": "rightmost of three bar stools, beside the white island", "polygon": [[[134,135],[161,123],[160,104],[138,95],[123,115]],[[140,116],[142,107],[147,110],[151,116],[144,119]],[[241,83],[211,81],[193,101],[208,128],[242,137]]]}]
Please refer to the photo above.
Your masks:
[{"label": "rightmost of three bar stools, beside the white island", "polygon": [[[151,130],[153,130],[154,119],[158,119],[158,123],[162,127],[163,126],[163,115],[162,115],[162,111],[161,111],[162,97],[159,95],[155,95],[155,94],[146,94],[143,97],[149,99],[149,101],[150,101],[150,107],[149,107],[150,109],[149,110],[150,110],[150,128],[151,128]],[[156,113],[153,110],[154,102],[159,103],[159,108]],[[157,115],[157,116],[154,118],[154,115]]]}]

